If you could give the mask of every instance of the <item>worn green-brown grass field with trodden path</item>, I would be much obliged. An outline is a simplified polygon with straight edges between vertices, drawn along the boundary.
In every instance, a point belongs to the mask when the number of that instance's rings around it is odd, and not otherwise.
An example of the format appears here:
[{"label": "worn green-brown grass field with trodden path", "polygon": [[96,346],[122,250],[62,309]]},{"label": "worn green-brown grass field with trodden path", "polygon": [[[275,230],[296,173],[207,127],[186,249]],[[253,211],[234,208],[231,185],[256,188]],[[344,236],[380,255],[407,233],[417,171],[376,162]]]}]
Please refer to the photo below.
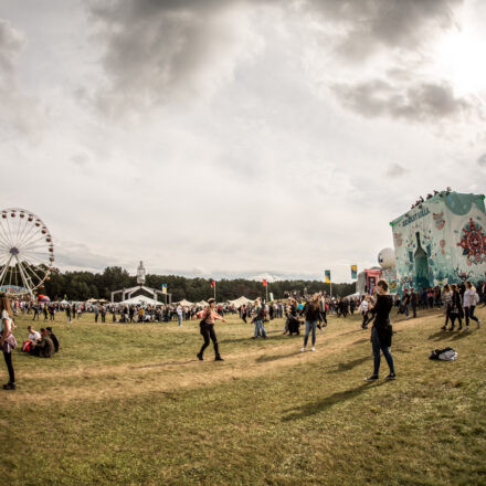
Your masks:
[{"label": "worn green-brown grass field with trodden path", "polygon": [[[59,355],[14,351],[18,390],[0,394],[0,483],[486,484],[486,328],[444,332],[441,313],[420,315],[394,319],[398,380],[382,379],[382,360],[376,383],[363,381],[372,356],[358,317],[331,317],[306,353],[282,320],[252,340],[252,326],[231,318],[216,325],[225,361],[211,347],[200,362],[196,321],[59,316]],[[486,321],[486,309],[477,315]],[[29,323],[18,319],[19,341]],[[446,346],[457,361],[429,360]]]}]

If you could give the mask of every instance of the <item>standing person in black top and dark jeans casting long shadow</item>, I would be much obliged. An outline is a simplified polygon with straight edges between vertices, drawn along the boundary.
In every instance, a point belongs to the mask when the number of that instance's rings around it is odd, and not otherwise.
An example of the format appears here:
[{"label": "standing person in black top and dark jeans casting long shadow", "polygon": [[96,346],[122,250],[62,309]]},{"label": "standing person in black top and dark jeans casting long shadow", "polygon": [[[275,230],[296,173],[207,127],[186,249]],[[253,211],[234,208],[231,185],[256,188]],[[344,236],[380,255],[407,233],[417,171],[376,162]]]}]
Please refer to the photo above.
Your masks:
[{"label": "standing person in black top and dark jeans casting long shadow", "polygon": [[387,360],[390,368],[390,374],[385,380],[394,380],[394,364],[393,358],[390,352],[391,337],[393,329],[390,324],[390,310],[393,307],[393,298],[388,292],[388,283],[385,281],[379,281],[377,284],[378,296],[377,303],[371,309],[371,314],[374,316],[373,327],[371,328],[371,345],[374,357],[373,374],[368,377],[366,381],[377,381],[378,373],[380,371],[381,352]]}]

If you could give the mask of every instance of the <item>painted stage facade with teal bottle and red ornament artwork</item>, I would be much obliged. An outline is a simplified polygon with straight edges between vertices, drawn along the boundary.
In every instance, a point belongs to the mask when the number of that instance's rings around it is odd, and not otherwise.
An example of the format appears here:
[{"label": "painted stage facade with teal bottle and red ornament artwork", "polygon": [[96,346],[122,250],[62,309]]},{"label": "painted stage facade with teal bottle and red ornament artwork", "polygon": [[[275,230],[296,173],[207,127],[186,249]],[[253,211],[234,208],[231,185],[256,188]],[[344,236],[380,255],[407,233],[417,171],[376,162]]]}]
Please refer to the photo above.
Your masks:
[{"label": "painted stage facade with teal bottle and red ornament artwork", "polygon": [[390,223],[399,292],[486,278],[484,199],[440,192]]}]

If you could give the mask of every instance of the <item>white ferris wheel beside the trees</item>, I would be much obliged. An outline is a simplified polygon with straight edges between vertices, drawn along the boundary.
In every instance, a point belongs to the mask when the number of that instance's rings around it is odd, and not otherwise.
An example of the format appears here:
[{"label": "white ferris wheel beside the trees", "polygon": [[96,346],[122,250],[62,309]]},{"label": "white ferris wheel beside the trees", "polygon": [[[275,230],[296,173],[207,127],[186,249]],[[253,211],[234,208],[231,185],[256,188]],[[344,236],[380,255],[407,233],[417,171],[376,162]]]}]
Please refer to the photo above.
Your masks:
[{"label": "white ferris wheel beside the trees", "polygon": [[49,278],[54,245],[43,221],[24,209],[0,213],[0,292],[33,295]]}]

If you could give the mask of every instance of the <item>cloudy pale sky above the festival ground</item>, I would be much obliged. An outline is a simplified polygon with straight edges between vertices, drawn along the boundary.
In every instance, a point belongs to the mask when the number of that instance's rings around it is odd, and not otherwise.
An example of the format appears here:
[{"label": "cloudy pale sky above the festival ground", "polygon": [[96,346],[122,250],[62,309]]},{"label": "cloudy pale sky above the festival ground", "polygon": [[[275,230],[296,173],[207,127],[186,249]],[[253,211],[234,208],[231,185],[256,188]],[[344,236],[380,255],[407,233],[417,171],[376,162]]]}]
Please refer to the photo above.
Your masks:
[{"label": "cloudy pale sky above the festival ground", "polygon": [[484,193],[482,0],[0,0],[1,209],[61,270],[350,281]]}]

